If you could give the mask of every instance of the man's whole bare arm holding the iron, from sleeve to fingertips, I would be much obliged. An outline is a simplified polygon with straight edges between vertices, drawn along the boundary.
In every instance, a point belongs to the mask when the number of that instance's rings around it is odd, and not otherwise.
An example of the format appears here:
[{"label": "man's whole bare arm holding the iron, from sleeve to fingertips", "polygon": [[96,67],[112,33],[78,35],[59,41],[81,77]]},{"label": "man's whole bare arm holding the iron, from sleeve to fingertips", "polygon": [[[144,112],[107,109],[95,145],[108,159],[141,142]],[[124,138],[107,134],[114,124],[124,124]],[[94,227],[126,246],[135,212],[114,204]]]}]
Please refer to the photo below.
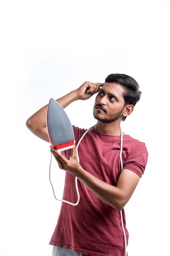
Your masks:
[{"label": "man's whole bare arm holding the iron, from sleeve to fingertips", "polygon": [[75,146],[69,159],[51,148],[59,167],[76,176],[93,194],[109,204],[111,207],[122,210],[139,182],[140,177],[130,170],[123,169],[119,176],[117,186],[110,185],[84,170],[76,156]]}]

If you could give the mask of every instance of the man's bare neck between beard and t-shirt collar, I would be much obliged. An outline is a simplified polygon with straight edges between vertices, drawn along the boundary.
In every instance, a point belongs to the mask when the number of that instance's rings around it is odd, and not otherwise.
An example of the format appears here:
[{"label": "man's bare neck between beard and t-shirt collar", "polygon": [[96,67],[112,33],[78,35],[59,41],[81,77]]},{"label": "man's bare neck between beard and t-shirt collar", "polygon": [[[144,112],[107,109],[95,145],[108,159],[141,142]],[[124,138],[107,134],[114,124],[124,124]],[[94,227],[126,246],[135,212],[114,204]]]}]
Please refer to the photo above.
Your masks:
[{"label": "man's bare neck between beard and t-shirt collar", "polygon": [[95,129],[98,132],[102,132],[105,134],[110,134],[110,135],[121,135],[121,128],[120,128],[120,123],[112,122],[112,123],[102,123],[101,121],[97,121]]}]

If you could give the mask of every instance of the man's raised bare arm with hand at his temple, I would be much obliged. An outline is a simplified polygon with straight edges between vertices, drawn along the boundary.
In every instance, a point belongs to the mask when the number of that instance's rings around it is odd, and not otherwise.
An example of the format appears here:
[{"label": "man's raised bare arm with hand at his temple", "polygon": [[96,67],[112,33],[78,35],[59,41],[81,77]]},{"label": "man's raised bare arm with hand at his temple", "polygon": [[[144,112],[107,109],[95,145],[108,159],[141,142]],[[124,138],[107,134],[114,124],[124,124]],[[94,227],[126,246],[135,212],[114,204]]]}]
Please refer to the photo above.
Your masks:
[{"label": "man's raised bare arm with hand at his temple", "polygon": [[[65,96],[57,99],[57,102],[63,108],[66,108],[70,103],[78,99],[89,99],[93,94],[98,92],[100,86],[102,85],[103,83],[85,82],[78,89],[73,90]],[[49,137],[46,129],[47,106],[48,104],[35,112],[35,114],[33,114],[31,117],[29,117],[29,119],[26,121],[26,127],[37,137],[49,142]]]}]

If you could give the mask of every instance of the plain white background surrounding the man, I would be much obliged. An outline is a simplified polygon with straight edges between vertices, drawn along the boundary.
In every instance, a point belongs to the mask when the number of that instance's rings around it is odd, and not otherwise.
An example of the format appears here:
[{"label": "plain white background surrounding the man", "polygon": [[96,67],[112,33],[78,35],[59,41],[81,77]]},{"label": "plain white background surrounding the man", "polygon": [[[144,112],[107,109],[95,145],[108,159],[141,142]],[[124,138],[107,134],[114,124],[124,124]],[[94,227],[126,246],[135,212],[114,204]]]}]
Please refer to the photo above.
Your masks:
[{"label": "plain white background surrounding the man", "polygon": [[[26,119],[51,97],[110,73],[140,85],[141,100],[121,126],[149,153],[125,207],[128,255],[170,255],[169,13],[168,0],[0,0],[0,256],[51,256],[60,210],[50,144]],[[72,124],[95,124],[94,99],[66,108]],[[64,171],[55,162],[52,169],[60,197]]]}]

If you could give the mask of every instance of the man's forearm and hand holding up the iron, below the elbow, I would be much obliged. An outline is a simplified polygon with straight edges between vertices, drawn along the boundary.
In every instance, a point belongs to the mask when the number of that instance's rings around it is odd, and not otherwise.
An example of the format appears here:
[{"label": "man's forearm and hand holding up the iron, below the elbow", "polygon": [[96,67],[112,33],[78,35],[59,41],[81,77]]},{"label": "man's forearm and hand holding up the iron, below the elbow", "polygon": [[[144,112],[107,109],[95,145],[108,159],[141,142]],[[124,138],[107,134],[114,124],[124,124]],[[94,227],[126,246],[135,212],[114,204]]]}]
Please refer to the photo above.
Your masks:
[{"label": "man's forearm and hand holding up the iron, below the elbow", "polygon": [[[84,170],[77,160],[75,145],[71,150],[69,159],[66,159],[52,147],[51,153],[55,157],[60,169],[77,177],[78,180],[80,180],[94,195],[111,207],[121,210],[126,202],[128,202],[128,199],[132,194],[132,189],[127,189],[122,181],[119,182],[118,187],[110,185]],[[124,190],[124,187],[126,190]]]}]

